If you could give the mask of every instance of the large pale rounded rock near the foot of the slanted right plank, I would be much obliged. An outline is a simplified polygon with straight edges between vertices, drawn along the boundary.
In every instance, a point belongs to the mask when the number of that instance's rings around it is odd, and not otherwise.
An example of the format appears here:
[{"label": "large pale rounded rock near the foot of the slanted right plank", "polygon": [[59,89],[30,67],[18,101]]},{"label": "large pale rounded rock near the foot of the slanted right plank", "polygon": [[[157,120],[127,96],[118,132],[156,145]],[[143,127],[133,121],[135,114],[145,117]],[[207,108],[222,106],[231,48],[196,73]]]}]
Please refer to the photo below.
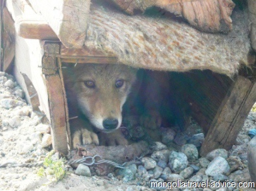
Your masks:
[{"label": "large pale rounded rock near the foot of the slanted right plank", "polygon": [[229,165],[226,159],[221,156],[217,156],[214,158],[208,165],[207,170],[205,170],[205,174],[214,177],[215,175],[228,173]]}]

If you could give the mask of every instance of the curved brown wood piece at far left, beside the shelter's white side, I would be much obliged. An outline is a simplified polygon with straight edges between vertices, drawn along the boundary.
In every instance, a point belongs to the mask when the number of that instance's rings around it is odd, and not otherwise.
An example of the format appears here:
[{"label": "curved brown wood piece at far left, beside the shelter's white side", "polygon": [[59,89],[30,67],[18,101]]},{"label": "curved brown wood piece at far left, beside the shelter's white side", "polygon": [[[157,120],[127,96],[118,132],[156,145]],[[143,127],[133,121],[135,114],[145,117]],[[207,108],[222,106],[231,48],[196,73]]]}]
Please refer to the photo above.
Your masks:
[{"label": "curved brown wood piece at far left, beside the shelter's white side", "polygon": [[6,71],[15,56],[15,26],[8,10],[3,9],[3,71]]}]

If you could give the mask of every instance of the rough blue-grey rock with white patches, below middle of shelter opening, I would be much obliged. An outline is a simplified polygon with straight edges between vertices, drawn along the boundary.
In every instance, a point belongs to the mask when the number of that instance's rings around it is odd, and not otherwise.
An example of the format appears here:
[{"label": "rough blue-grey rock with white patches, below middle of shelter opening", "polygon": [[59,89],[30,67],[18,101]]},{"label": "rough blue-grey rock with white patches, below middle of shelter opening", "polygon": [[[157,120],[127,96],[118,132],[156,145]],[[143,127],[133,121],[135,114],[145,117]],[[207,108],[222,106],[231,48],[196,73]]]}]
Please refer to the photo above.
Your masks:
[{"label": "rough blue-grey rock with white patches, below middle of shelter opening", "polygon": [[180,173],[188,165],[188,158],[184,153],[177,153],[176,151],[171,151],[169,155],[169,166],[174,173]]}]

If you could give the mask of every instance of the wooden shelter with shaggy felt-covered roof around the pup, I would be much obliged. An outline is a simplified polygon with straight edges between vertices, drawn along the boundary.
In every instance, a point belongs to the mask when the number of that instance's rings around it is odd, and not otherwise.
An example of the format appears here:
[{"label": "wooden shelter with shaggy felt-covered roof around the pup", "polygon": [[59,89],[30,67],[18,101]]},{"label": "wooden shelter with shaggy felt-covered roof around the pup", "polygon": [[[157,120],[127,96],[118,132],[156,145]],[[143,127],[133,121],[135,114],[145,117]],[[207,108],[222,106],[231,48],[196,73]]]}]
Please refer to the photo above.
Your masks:
[{"label": "wooden shelter with shaggy felt-covered roof around the pup", "polygon": [[[231,148],[256,101],[256,14],[248,15],[255,2],[235,11],[231,0],[126,2],[6,1],[1,69],[9,68],[15,47],[15,77],[51,123],[54,149],[66,154],[71,141],[63,62],[173,71],[180,107],[207,133],[201,154]],[[152,6],[166,15],[150,15]]]}]

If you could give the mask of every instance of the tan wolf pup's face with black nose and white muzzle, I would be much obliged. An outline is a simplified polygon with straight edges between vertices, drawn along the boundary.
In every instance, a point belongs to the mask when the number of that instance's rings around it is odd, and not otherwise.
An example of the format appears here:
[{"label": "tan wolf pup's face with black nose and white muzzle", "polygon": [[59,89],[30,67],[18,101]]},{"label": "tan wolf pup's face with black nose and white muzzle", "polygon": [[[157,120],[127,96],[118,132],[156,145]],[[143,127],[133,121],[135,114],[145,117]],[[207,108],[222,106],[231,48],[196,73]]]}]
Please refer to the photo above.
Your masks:
[{"label": "tan wolf pup's face with black nose and white muzzle", "polygon": [[97,129],[118,129],[137,70],[120,64],[80,64],[74,69],[73,88],[80,110]]}]

